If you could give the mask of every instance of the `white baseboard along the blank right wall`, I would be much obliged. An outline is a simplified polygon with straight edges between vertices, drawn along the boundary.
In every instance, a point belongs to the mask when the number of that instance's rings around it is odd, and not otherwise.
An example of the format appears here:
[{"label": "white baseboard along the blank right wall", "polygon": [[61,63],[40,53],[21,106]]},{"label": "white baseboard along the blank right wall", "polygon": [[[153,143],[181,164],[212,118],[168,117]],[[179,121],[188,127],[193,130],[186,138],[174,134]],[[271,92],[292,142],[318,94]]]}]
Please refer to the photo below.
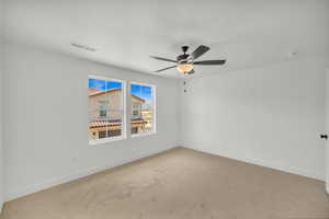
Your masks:
[{"label": "white baseboard along the blank right wall", "polygon": [[231,154],[222,154],[215,150],[209,150],[208,148],[205,149],[204,147],[193,146],[193,143],[188,143],[188,146],[184,146],[184,147],[193,149],[193,150],[202,151],[205,153],[220,155],[223,158],[234,159],[237,161],[242,161],[246,163],[251,163],[251,164],[256,164],[256,165],[260,165],[260,166],[264,166],[264,168],[270,168],[270,169],[279,170],[282,172],[286,172],[286,173],[292,173],[292,174],[296,174],[296,175],[300,175],[300,176],[305,176],[305,177],[325,181],[325,176],[322,173],[309,172],[309,171],[300,170],[299,168],[296,168],[296,166],[286,166],[286,165],[283,166],[283,165],[279,165],[277,163],[271,163],[269,161],[263,161],[263,160],[258,160],[258,159],[249,159],[249,158],[236,157],[236,155],[231,155]]}]

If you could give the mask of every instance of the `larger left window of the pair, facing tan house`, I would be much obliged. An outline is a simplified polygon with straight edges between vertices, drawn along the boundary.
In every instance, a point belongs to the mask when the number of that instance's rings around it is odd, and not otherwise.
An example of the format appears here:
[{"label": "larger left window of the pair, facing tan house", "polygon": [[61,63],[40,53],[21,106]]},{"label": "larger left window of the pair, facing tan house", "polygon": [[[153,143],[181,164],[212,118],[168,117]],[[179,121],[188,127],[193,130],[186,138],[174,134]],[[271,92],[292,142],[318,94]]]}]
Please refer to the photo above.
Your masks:
[{"label": "larger left window of the pair, facing tan house", "polygon": [[124,82],[89,77],[89,140],[124,137]]}]

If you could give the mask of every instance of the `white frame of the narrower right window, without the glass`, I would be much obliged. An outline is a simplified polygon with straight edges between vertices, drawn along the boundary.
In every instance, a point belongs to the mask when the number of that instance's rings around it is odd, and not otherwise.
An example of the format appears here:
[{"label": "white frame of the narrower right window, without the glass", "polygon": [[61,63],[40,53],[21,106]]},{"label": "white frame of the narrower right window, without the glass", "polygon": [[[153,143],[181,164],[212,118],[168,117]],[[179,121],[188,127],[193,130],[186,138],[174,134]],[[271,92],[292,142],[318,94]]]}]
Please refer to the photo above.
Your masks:
[{"label": "white frame of the narrower right window, without the glass", "polygon": [[[151,89],[152,89],[152,111],[154,111],[154,113],[152,113],[152,130],[151,131],[148,131],[148,132],[140,132],[140,134],[132,134],[132,128],[129,128],[129,135],[131,135],[131,137],[132,138],[136,138],[136,137],[143,137],[143,136],[149,136],[149,135],[155,135],[155,134],[157,134],[157,96],[156,96],[156,94],[157,94],[157,92],[156,92],[156,90],[157,90],[157,87],[155,85],[155,84],[150,84],[150,83],[144,83],[144,82],[138,82],[138,81],[129,81],[129,83],[127,83],[127,85],[128,85],[128,91],[129,91],[129,96],[132,95],[132,84],[138,84],[138,85],[147,85],[147,87],[151,87]],[[129,101],[131,101],[131,105],[132,105],[132,100],[131,100],[131,97],[129,97]],[[131,123],[132,124],[132,108],[131,108],[131,112],[128,112],[129,113],[129,122],[128,123]],[[131,127],[131,125],[129,125],[129,127]]]}]

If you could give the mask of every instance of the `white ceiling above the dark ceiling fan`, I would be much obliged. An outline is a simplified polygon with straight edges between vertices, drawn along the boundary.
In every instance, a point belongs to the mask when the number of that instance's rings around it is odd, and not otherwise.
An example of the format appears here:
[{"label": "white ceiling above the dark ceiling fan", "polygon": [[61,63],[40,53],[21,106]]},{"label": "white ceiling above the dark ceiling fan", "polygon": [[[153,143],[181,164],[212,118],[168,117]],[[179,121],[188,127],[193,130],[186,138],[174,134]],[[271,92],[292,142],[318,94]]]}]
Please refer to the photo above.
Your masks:
[{"label": "white ceiling above the dark ceiling fan", "polygon": [[174,59],[182,45],[209,46],[200,60],[227,59],[195,67],[200,74],[277,62],[292,51],[329,54],[327,0],[7,0],[5,18],[10,41],[147,73],[171,66],[150,55]]}]

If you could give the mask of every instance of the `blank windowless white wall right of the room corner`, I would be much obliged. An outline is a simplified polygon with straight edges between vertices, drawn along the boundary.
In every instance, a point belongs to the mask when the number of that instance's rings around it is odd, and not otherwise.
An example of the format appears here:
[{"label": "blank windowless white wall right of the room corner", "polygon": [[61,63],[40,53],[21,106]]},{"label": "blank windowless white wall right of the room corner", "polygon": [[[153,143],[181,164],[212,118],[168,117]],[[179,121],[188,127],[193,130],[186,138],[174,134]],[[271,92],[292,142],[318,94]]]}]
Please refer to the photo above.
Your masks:
[{"label": "blank windowless white wall right of the room corner", "polygon": [[328,64],[305,58],[193,78],[182,96],[180,143],[324,180]]}]

